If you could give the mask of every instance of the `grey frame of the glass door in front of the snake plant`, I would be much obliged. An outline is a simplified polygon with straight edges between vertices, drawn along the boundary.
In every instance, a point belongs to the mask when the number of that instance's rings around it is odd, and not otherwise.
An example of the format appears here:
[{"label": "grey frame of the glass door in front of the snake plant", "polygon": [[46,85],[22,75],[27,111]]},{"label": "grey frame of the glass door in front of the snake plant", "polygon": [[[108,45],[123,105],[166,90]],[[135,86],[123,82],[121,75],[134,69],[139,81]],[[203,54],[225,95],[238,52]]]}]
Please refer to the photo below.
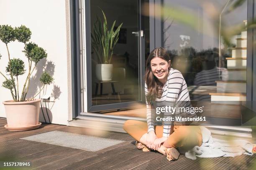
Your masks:
[{"label": "grey frame of the glass door in front of the snake plant", "polygon": [[[142,20],[143,16],[141,15],[141,3],[143,0],[138,0],[138,31],[143,30]],[[136,106],[136,103],[143,102],[145,99],[144,95],[144,80],[143,76],[145,75],[145,39],[144,36],[141,36],[141,32],[139,31],[139,40],[138,40],[138,56],[139,56],[139,100],[134,102],[121,102],[121,103],[113,103],[113,104],[105,104],[105,105],[92,105],[92,67],[91,67],[91,23],[90,23],[90,0],[84,0],[84,25],[85,27],[82,28],[84,33],[84,45],[85,49],[81,52],[84,52],[83,57],[83,64],[82,66],[82,73],[84,74],[84,109],[83,112],[97,112],[97,111],[104,111],[104,110],[117,110],[122,108],[129,108]]]}]

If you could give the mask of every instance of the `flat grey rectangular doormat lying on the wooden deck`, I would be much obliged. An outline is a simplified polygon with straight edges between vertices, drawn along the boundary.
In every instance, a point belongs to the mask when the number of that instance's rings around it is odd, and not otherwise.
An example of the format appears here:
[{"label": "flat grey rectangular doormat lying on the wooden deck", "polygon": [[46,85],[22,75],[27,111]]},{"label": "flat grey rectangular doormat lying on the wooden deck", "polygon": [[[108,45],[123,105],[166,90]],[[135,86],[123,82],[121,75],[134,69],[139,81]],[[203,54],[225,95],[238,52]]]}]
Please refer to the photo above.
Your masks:
[{"label": "flat grey rectangular doormat lying on the wooden deck", "polygon": [[48,143],[52,145],[59,145],[74,149],[87,150],[92,152],[125,142],[123,140],[99,138],[88,135],[81,135],[77,133],[63,132],[59,130],[31,135],[20,139]]}]

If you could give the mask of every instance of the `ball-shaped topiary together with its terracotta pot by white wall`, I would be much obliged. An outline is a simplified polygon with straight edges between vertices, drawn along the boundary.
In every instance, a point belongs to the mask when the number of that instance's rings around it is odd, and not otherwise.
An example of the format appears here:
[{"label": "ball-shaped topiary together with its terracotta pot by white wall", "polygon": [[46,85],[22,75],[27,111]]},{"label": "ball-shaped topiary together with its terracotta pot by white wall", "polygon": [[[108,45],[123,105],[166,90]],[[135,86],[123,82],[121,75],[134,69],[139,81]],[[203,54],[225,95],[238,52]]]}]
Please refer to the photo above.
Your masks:
[{"label": "ball-shaped topiary together with its terracotta pot by white wall", "polygon": [[[29,42],[31,38],[31,30],[24,25],[20,27],[11,27],[9,25],[0,25],[0,40],[5,44],[8,53],[8,63],[5,67],[5,74],[0,71],[4,77],[2,86],[10,90],[13,100],[4,101],[5,113],[8,125],[5,128],[9,130],[29,130],[37,128],[40,124],[39,105],[40,99],[26,98],[29,90],[30,77],[36,68],[38,62],[47,57],[46,50],[39,47],[33,42]],[[28,69],[25,69],[25,63],[20,58],[11,57],[8,44],[17,40],[24,44],[24,54],[28,60]],[[0,55],[0,59],[3,58]],[[2,63],[1,63],[2,64]],[[26,80],[23,86],[20,86],[19,76],[27,72]],[[44,85],[51,84],[53,78],[49,73],[44,72],[41,75],[40,81]],[[21,89],[19,89],[21,87]],[[39,92],[42,90],[41,88]],[[16,109],[15,109],[16,108]],[[36,108],[36,109],[35,109]]]}]

